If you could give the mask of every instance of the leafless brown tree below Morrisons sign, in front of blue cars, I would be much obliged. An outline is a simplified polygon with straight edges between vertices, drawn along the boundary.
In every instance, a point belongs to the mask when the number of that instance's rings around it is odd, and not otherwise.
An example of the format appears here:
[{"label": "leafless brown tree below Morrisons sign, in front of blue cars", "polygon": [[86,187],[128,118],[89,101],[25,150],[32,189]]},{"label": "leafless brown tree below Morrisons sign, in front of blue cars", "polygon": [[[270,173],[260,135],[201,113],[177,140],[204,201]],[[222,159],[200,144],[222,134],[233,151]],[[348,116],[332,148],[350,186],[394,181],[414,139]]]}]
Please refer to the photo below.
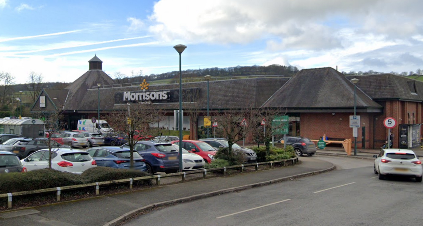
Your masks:
[{"label": "leafless brown tree below Morrisons sign, in front of blue cars", "polygon": [[150,124],[164,119],[162,110],[158,110],[151,102],[127,103],[126,110],[114,111],[105,118],[118,133],[128,137],[130,150],[130,168],[134,167],[134,146],[138,141],[159,134],[159,128]]}]

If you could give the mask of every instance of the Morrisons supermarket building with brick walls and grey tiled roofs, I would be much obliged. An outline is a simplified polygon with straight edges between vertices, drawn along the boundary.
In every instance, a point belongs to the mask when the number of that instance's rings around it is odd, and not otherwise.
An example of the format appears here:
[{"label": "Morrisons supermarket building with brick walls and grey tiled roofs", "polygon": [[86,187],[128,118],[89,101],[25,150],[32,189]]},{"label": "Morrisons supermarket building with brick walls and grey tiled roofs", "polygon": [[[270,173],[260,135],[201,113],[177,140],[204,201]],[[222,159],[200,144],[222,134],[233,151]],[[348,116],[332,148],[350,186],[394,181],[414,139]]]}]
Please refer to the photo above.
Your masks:
[{"label": "Morrisons supermarket building with brick walls and grey tiled roofs", "polygon": [[[420,145],[423,82],[392,74],[343,75],[331,67],[301,70],[292,78],[249,78],[209,81],[209,109],[219,113],[242,109],[249,103],[265,108],[284,108],[289,116],[289,135],[319,139],[323,134],[338,139],[353,139],[349,116],[354,109],[354,84],[357,115],[360,116],[357,148],[379,148],[387,137],[383,121],[393,117],[394,147],[412,148]],[[97,83],[101,86],[98,88]],[[146,91],[141,89],[148,87]],[[199,109],[206,113],[207,82],[183,84],[183,92],[198,95]],[[63,106],[65,121],[76,129],[79,119],[100,113],[125,110],[128,100],[149,100],[168,112],[168,120],[158,126],[172,129],[173,111],[179,109],[179,83],[147,86],[144,83],[116,84],[102,70],[102,61],[93,57],[89,70],[66,89],[44,89],[31,112],[55,111]],[[41,103],[40,103],[41,100]],[[189,100],[191,101],[191,100]],[[203,121],[200,117],[198,125]],[[193,122],[184,116],[184,127]],[[191,135],[193,134],[191,130]]]}]

